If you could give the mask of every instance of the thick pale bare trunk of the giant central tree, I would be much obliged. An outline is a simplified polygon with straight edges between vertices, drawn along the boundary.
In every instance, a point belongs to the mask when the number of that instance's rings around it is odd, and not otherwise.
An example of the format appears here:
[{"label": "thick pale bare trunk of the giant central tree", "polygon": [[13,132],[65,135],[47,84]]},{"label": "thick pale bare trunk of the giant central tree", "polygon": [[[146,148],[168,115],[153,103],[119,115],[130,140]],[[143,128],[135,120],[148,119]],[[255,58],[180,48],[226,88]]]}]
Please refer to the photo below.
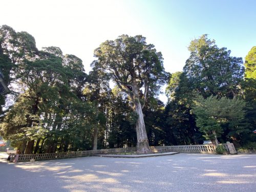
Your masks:
[{"label": "thick pale bare trunk of the giant central tree", "polygon": [[144,116],[142,113],[142,107],[141,107],[139,98],[135,99],[134,106],[135,106],[135,111],[139,116],[136,122],[138,153],[151,153],[152,150],[150,150],[150,145],[148,144],[146,128],[144,123]]}]

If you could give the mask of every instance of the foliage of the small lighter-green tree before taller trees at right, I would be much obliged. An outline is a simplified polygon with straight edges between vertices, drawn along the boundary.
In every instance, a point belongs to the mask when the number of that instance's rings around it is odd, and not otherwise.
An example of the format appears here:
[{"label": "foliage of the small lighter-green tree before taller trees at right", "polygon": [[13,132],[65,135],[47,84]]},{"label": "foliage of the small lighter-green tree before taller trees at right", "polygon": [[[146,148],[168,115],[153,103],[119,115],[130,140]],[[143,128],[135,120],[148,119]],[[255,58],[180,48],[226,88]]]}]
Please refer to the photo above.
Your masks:
[{"label": "foliage of the small lighter-green tree before taller trees at right", "polygon": [[217,96],[210,96],[204,99],[197,96],[193,106],[193,113],[196,115],[196,123],[199,131],[204,133],[206,139],[214,141],[223,133],[224,126],[228,128],[230,137],[238,137],[241,133],[247,132],[243,125],[245,116],[245,101],[242,99],[228,99]]}]

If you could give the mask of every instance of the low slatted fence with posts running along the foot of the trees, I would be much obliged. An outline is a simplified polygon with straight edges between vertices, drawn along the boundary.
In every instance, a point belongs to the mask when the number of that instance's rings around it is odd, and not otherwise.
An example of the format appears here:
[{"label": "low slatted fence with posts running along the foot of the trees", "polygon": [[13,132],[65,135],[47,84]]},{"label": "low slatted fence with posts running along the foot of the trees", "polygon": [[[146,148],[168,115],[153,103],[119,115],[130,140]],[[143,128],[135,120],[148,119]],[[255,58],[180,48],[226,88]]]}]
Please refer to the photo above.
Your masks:
[{"label": "low slatted fence with posts running along the foot of the trees", "polygon": [[[224,146],[227,153],[230,153],[232,150],[234,150],[234,146],[232,143],[228,143],[228,144],[225,143],[222,145]],[[157,153],[157,152],[216,153],[216,148],[212,144],[151,146],[151,150],[154,153]],[[20,154],[18,157],[18,161],[30,161],[31,159],[35,159],[35,160],[63,159],[63,158],[93,156],[98,154],[129,154],[136,151],[137,151],[137,147],[127,147],[127,148],[111,148],[111,149],[94,150],[94,151],[78,151],[78,152],[46,153],[46,154]],[[14,155],[15,154],[11,154],[11,156],[13,157]]]}]

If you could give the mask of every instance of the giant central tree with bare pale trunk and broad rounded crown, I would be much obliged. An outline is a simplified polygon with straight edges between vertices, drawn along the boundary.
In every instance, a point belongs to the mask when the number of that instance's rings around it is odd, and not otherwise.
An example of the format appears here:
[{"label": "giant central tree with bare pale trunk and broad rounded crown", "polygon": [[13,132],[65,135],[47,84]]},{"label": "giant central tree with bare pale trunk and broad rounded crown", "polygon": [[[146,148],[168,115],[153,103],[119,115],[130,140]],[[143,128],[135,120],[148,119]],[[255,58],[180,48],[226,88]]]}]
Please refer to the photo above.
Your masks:
[{"label": "giant central tree with bare pale trunk and broad rounded crown", "polygon": [[[154,45],[146,44],[145,37],[121,35],[115,40],[106,40],[94,52],[98,59],[92,63],[104,71],[119,89],[131,99],[131,107],[138,114],[136,122],[139,153],[150,152],[142,109],[148,93],[157,93],[164,83],[163,58]],[[142,93],[143,91],[143,93]]]}]

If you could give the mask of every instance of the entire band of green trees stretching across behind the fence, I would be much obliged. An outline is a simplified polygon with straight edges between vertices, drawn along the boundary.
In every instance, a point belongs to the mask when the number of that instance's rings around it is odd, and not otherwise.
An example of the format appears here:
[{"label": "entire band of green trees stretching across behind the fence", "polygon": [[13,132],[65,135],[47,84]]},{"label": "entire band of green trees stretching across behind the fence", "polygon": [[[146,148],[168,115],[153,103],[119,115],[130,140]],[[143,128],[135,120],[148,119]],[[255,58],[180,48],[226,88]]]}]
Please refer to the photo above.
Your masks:
[{"label": "entire band of green trees stretching across behind the fence", "polygon": [[25,154],[147,152],[203,140],[256,147],[256,47],[243,61],[202,35],[188,50],[183,71],[170,74],[145,37],[121,35],[95,49],[86,73],[77,56],[38,50],[29,33],[0,26],[0,70],[11,90],[0,96],[0,136]]}]

